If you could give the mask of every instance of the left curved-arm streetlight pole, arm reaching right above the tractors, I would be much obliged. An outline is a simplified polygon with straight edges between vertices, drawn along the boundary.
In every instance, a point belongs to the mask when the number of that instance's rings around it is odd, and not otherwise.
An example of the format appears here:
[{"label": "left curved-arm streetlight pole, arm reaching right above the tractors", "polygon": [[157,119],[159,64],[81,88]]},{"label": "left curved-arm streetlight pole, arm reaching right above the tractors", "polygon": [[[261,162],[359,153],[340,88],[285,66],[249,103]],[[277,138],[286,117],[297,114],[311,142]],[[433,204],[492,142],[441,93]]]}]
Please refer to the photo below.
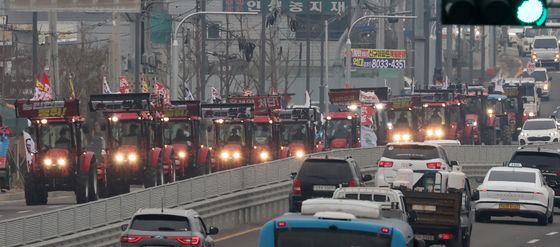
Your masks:
[{"label": "left curved-arm streetlight pole, arm reaching right above the tractors", "polygon": [[[221,11],[200,11],[189,14],[185,16],[175,27],[175,31],[173,32],[172,41],[171,41],[171,85],[169,91],[171,91],[171,98],[177,98],[178,95],[178,85],[177,80],[179,79],[179,54],[178,54],[178,47],[179,42],[177,41],[177,33],[179,32],[179,27],[189,18],[195,15],[258,15],[258,12],[221,12]],[[202,34],[206,35],[206,34]],[[204,44],[203,44],[204,45]]]}]

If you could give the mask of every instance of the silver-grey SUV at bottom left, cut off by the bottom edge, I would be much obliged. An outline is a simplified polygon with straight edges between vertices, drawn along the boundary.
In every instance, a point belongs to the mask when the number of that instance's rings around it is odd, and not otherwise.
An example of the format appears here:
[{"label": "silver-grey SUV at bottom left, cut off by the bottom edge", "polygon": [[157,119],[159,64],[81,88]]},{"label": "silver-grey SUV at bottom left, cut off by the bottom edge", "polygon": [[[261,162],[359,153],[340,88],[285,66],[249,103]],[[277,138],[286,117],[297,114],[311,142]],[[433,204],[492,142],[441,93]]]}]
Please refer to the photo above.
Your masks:
[{"label": "silver-grey SUV at bottom left, cut off by the bottom edge", "polygon": [[218,228],[206,227],[192,209],[139,209],[129,224],[121,226],[121,246],[214,246],[211,235]]}]

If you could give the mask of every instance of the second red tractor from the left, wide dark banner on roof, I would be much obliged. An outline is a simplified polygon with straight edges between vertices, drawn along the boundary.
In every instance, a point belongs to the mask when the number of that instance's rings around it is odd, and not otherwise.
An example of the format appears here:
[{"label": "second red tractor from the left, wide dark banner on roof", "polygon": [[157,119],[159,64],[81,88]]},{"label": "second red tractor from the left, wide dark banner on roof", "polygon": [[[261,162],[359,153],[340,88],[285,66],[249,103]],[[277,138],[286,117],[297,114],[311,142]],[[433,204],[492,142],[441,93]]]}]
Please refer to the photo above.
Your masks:
[{"label": "second red tractor from the left, wide dark banner on roof", "polygon": [[155,143],[150,94],[91,95],[90,110],[103,112],[108,121],[104,166],[109,196],[130,192],[132,184],[171,182],[164,167],[175,165],[172,146]]}]

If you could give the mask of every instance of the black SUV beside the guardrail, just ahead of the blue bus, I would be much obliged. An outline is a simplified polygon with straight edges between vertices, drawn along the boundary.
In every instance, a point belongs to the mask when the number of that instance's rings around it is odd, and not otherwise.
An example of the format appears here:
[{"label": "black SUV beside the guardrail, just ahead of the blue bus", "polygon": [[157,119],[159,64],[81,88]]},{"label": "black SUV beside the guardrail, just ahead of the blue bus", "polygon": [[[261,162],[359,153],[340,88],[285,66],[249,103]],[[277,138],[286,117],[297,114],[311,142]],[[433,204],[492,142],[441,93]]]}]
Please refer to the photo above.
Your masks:
[{"label": "black SUV beside the guardrail, just ahead of the blue bus", "polygon": [[308,158],[303,161],[299,171],[292,173],[290,192],[290,212],[301,211],[304,200],[316,197],[331,198],[338,187],[360,187],[372,180],[372,176],[362,175],[354,159]]}]

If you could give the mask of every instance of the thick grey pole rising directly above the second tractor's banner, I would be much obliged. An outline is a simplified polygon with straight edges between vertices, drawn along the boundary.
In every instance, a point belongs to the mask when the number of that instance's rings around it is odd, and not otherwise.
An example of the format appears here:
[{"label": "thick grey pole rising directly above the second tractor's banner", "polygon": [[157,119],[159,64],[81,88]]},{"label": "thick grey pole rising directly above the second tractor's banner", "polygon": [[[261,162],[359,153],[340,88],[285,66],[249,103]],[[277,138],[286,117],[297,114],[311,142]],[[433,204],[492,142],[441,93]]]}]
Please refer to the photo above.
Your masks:
[{"label": "thick grey pole rising directly above the second tractor's banner", "polygon": [[112,22],[112,32],[111,32],[111,62],[109,63],[109,85],[112,88],[118,88],[118,80],[121,73],[121,38],[120,38],[120,26],[121,18],[120,14],[113,12],[113,22]]}]

